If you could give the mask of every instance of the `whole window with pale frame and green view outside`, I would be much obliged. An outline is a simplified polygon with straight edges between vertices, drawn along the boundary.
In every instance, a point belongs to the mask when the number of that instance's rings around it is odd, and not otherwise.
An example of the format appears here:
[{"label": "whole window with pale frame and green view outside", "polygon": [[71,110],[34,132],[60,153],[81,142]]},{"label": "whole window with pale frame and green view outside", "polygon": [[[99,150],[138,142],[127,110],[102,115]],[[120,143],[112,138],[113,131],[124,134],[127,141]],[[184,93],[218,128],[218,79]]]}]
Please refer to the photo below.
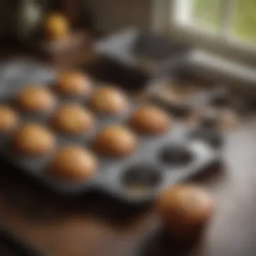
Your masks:
[{"label": "whole window with pale frame and green view outside", "polygon": [[256,65],[256,0],[153,0],[155,30]]}]

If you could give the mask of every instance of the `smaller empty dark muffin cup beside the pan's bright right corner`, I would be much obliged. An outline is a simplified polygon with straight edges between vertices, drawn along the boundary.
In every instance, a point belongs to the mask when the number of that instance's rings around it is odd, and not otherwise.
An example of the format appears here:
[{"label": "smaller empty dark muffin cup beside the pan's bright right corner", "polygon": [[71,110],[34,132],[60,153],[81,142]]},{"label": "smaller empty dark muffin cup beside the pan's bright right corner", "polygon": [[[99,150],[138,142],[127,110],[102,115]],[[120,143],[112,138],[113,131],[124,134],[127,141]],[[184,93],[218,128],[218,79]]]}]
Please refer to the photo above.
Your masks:
[{"label": "smaller empty dark muffin cup beside the pan's bright right corner", "polygon": [[185,145],[165,146],[160,152],[160,160],[164,164],[183,166],[193,160],[193,153]]}]

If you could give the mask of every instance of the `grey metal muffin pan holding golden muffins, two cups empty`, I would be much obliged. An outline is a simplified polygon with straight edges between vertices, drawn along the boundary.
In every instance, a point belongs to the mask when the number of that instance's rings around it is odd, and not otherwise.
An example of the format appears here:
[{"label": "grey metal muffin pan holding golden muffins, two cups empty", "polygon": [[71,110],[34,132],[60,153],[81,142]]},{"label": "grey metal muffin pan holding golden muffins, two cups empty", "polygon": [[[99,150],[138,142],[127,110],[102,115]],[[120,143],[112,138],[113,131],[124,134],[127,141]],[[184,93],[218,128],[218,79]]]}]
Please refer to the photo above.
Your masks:
[{"label": "grey metal muffin pan holding golden muffins, two cups empty", "polygon": [[[40,74],[42,71],[42,74]],[[36,79],[38,75],[38,80]],[[37,84],[51,86],[55,83],[56,73],[44,68],[34,67],[27,69],[19,83],[11,84],[11,93],[7,90],[1,94],[1,101],[13,104],[13,98],[18,91],[24,88],[30,81]],[[3,83],[3,81],[1,82]],[[94,88],[98,85],[94,84]],[[7,87],[6,87],[7,88]],[[67,98],[53,92],[58,99],[58,106],[65,102],[81,104],[86,106],[88,98]],[[57,108],[58,108],[57,106]],[[15,104],[13,105],[16,108]],[[93,113],[96,120],[94,129],[80,135],[67,135],[53,131],[56,137],[56,145],[51,152],[43,157],[29,157],[16,154],[9,147],[12,134],[1,135],[1,156],[11,164],[14,164],[25,174],[34,177],[37,181],[47,187],[64,195],[78,195],[98,189],[109,193],[119,199],[131,203],[142,203],[154,199],[156,193],[162,187],[179,183],[205,170],[208,166],[218,160],[216,152],[204,141],[191,139],[187,136],[189,131],[186,127],[172,122],[170,130],[164,135],[139,135],[137,134],[137,148],[135,152],[127,157],[115,158],[100,156],[98,158],[98,171],[87,181],[69,182],[53,177],[49,172],[49,164],[57,150],[66,145],[77,145],[83,148],[91,148],[95,135],[106,125],[127,125],[131,114],[139,107],[139,102],[129,99],[129,108],[126,112],[116,116],[97,115]],[[49,126],[49,120],[53,113],[47,115],[29,115],[16,108],[22,122],[33,121],[40,125]],[[176,150],[175,150],[176,149]]]}]

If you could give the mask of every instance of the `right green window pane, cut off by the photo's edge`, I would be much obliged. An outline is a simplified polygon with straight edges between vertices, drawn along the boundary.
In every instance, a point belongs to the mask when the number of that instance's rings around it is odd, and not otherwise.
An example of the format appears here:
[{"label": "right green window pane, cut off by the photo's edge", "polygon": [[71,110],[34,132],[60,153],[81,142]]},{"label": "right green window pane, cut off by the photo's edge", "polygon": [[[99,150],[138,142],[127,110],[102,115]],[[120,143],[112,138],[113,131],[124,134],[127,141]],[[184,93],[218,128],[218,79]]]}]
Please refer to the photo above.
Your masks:
[{"label": "right green window pane, cut off by the photo's edge", "polygon": [[256,0],[236,0],[232,32],[242,40],[256,42]]}]

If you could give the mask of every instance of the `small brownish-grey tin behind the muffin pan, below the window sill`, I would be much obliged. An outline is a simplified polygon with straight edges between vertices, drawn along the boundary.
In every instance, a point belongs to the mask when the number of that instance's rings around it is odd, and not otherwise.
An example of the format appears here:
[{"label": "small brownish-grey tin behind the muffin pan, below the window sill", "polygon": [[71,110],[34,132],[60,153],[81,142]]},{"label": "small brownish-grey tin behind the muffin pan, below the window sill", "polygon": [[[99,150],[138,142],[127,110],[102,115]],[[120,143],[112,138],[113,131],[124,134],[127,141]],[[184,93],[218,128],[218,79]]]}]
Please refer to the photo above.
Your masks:
[{"label": "small brownish-grey tin behind the muffin pan, below the window sill", "polygon": [[222,105],[228,102],[220,92],[222,82],[210,74],[200,72],[193,61],[180,59],[160,69],[149,86],[152,100],[177,117],[184,117],[205,104]]}]

